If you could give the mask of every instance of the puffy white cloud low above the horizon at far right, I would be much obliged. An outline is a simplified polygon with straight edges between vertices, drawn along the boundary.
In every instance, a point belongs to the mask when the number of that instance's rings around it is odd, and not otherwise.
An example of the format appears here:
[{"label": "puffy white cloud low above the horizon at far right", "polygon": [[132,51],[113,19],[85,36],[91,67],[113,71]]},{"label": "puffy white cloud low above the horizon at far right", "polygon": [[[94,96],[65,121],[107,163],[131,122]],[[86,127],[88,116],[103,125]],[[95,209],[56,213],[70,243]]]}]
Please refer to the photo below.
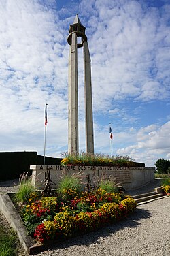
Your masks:
[{"label": "puffy white cloud low above the horizon at far right", "polygon": [[137,144],[131,144],[126,148],[119,148],[120,155],[130,155],[137,161],[153,165],[156,159],[164,155],[169,158],[170,151],[170,122],[163,125],[149,125],[135,133]]}]

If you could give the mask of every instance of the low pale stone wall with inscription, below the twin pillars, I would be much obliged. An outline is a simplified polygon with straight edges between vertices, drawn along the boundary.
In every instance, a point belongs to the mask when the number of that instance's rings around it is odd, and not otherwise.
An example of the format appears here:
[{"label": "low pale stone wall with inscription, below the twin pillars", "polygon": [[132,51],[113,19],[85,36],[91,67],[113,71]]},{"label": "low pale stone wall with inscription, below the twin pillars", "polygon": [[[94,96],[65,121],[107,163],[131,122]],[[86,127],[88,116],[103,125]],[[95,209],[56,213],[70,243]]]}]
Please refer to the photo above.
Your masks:
[{"label": "low pale stone wall with inscription, below the twin pillars", "polygon": [[[73,175],[80,173],[82,189],[90,180],[91,184],[97,183],[100,178],[112,178],[120,183],[126,190],[137,189],[154,180],[154,167],[110,167],[110,166],[61,166],[61,165],[31,165],[32,185],[37,189],[44,189],[45,173],[50,170],[50,178],[57,188],[63,174]],[[88,181],[87,181],[88,180]]]}]

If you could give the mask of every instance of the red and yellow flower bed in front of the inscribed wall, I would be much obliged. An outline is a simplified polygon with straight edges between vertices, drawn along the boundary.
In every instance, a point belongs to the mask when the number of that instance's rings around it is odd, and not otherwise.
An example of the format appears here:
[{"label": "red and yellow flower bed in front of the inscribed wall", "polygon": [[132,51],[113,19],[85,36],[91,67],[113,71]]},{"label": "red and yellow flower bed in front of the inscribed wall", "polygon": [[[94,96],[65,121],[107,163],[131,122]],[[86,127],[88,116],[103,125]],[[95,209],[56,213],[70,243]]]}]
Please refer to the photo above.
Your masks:
[{"label": "red and yellow flower bed in front of the inscribed wall", "polygon": [[98,189],[77,193],[69,189],[55,197],[38,199],[32,193],[20,212],[28,234],[40,242],[68,238],[114,223],[136,208],[131,197]]}]

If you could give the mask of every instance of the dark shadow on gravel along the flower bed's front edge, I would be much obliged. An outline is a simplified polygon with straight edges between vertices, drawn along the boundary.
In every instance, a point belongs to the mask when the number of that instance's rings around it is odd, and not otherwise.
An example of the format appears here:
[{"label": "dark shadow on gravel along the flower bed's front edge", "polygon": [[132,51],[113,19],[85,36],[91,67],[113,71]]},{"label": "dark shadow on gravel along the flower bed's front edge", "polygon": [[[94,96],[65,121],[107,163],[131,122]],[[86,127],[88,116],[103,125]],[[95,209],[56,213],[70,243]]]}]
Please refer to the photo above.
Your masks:
[{"label": "dark shadow on gravel along the flower bed's front edge", "polygon": [[112,236],[112,234],[116,233],[120,229],[135,228],[138,225],[141,225],[141,223],[139,223],[141,219],[148,219],[151,217],[151,215],[152,214],[148,210],[137,209],[135,213],[130,217],[127,217],[118,223],[108,225],[98,229],[97,231],[92,231],[88,234],[84,234],[75,238],[69,238],[64,242],[58,242],[57,244],[50,246],[49,249],[66,249],[69,246],[75,245],[100,244],[100,241],[98,241],[100,237],[105,238],[107,236]]}]

